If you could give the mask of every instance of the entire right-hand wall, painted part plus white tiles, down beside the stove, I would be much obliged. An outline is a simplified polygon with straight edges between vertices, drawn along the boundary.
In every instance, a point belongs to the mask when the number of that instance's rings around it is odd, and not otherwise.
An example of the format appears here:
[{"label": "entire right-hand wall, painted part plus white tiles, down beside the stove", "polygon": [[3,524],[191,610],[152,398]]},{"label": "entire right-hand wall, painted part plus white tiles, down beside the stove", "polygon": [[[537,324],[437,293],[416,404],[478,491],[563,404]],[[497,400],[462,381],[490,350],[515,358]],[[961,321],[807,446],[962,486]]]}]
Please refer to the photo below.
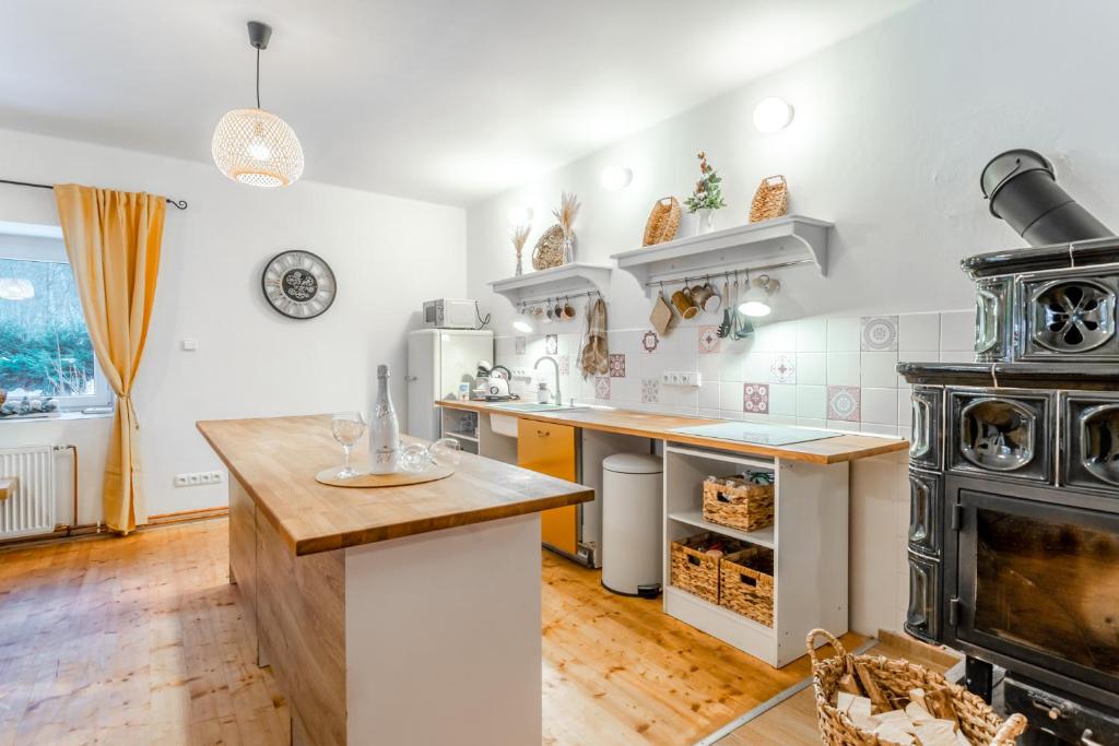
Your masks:
[{"label": "entire right-hand wall, painted part plus white tiles, down beside the stove", "polygon": [[[971,314],[956,312],[970,308],[972,293],[959,259],[1024,244],[988,214],[981,199],[979,173],[988,159],[1009,148],[1038,150],[1055,162],[1070,193],[1119,228],[1113,133],[1119,103],[1104,92],[1107,72],[1115,68],[1110,30],[1117,22],[1119,6],[1103,2],[930,0],[472,207],[467,214],[469,292],[493,311],[498,361],[532,365],[549,347],[542,334],[557,334],[561,368],[571,370],[565,396],[609,398],[633,409],[906,435],[908,387],[891,375],[893,365],[899,359],[972,359]],[[788,130],[762,135],[753,128],[752,112],[770,95],[787,98],[797,114]],[[579,323],[513,338],[513,308],[486,286],[513,274],[508,209],[534,209],[530,248],[553,223],[560,192],[577,192],[583,210],[575,226],[576,258],[611,264],[610,254],[639,246],[658,198],[676,195],[683,201],[690,193],[700,149],[724,179],[727,208],[717,213],[716,228],[745,223],[759,181],[783,173],[791,213],[836,224],[828,276],[808,267],[777,273],[784,287],[771,325],[747,341],[722,340],[717,355],[698,344],[703,327],[718,323],[709,315],[678,322],[650,355],[637,341],[649,329],[649,296],[615,270],[608,298],[609,340],[624,374],[612,372],[605,380],[581,381],[575,372],[582,317]],[[608,164],[633,169],[632,185],[618,192],[603,189],[599,178]],[[950,313],[906,315],[913,312]],[[900,320],[900,348],[896,341],[882,351],[859,346],[859,325],[872,315],[892,320],[895,330]],[[818,332],[801,333],[822,328],[819,317],[828,317],[824,347]],[[793,320],[796,324],[779,323]],[[854,332],[854,347],[848,340],[833,350],[833,327]],[[806,351],[802,338],[815,339],[817,347]],[[793,361],[794,380],[775,377],[774,356]],[[699,370],[704,387],[658,388],[661,370]],[[743,389],[751,384],[768,387],[768,414],[743,412]],[[861,396],[858,422],[833,422],[833,397],[840,388]],[[854,630],[901,630],[908,513],[904,456],[856,464]]]}]

